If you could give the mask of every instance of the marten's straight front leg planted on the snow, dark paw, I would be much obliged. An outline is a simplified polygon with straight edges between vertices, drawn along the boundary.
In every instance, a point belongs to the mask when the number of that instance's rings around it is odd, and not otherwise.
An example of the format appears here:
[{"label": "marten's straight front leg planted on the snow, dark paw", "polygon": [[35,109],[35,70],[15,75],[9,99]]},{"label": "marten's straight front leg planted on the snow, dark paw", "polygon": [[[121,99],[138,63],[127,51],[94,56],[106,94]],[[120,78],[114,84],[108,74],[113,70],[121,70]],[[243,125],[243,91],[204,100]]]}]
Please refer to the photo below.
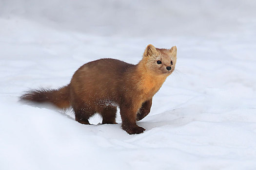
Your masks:
[{"label": "marten's straight front leg planted on the snow, dark paw", "polygon": [[[138,106],[139,107],[139,106]],[[120,115],[122,119],[122,129],[128,134],[141,134],[145,130],[136,124],[138,107],[135,105],[120,105]]]}]

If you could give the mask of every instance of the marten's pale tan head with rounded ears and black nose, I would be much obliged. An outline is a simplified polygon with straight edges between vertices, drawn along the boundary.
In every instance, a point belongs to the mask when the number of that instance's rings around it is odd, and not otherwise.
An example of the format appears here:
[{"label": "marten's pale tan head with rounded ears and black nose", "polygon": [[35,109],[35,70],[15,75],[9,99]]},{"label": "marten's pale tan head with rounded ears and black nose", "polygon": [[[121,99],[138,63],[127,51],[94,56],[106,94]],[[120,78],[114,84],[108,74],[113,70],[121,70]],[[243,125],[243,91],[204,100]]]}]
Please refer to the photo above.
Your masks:
[{"label": "marten's pale tan head with rounded ears and black nose", "polygon": [[177,47],[158,49],[149,44],[143,54],[142,64],[152,74],[170,75],[175,68]]}]

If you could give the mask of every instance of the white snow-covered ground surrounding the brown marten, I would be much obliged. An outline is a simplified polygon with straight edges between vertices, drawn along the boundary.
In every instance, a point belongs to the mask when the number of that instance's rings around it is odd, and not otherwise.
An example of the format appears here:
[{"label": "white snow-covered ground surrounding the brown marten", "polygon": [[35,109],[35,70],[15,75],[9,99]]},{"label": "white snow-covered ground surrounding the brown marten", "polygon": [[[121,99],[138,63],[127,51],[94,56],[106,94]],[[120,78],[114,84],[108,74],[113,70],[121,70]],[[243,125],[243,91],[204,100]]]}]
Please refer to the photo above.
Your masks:
[{"label": "white snow-covered ground surrounding the brown marten", "polygon": [[[253,0],[0,0],[0,170],[255,170]],[[84,63],[137,64],[177,45],[177,71],[128,135],[18,102]],[[100,123],[99,116],[90,119]]]}]

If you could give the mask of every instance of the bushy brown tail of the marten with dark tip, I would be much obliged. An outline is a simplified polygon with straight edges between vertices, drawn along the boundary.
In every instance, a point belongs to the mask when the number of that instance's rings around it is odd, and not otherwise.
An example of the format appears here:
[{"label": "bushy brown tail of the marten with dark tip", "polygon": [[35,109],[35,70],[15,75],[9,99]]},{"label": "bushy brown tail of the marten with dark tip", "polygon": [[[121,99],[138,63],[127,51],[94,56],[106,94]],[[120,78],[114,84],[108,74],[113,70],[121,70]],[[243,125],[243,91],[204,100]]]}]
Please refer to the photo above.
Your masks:
[{"label": "bushy brown tail of the marten with dark tip", "polygon": [[64,109],[70,106],[69,85],[60,87],[55,90],[39,89],[27,91],[20,96],[21,101],[52,103],[55,106]]}]

